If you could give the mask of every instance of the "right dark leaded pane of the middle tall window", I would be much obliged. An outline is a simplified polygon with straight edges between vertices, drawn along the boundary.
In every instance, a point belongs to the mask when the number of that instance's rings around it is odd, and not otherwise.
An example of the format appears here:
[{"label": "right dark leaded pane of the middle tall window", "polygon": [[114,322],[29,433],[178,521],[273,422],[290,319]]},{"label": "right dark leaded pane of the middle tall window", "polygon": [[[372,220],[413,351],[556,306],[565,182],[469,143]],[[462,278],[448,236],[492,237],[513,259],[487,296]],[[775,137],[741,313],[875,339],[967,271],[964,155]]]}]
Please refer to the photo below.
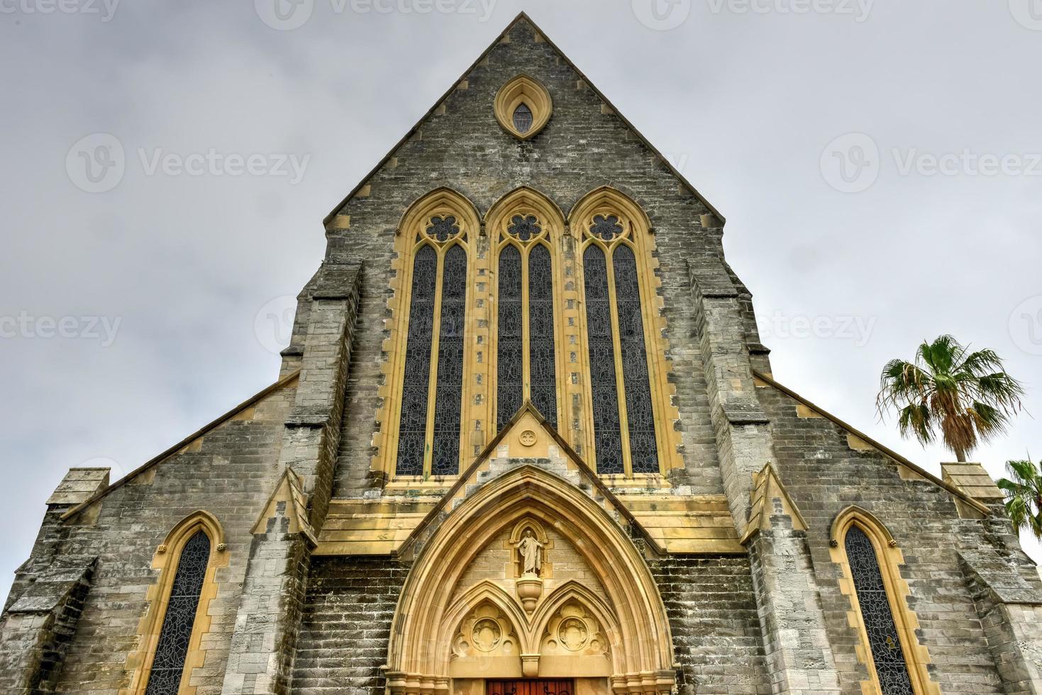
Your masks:
[{"label": "right dark leaded pane of the middle tall window", "polygon": [[528,371],[531,404],[557,428],[557,378],[553,353],[553,273],[542,244],[528,252]]}]

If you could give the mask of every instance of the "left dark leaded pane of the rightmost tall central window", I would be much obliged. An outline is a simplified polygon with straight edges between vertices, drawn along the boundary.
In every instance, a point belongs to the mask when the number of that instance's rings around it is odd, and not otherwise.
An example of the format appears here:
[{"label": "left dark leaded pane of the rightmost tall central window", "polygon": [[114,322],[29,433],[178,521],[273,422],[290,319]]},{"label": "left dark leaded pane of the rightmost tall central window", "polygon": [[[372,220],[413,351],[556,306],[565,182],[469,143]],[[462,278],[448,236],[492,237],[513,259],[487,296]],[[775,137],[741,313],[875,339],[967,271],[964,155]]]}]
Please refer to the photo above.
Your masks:
[{"label": "left dark leaded pane of the rightmost tall central window", "polygon": [[607,264],[600,247],[591,244],[582,254],[586,286],[587,341],[590,345],[590,391],[593,395],[593,435],[597,472],[622,473],[622,436],[619,394],[615,384],[615,345],[612,338],[612,298]]}]

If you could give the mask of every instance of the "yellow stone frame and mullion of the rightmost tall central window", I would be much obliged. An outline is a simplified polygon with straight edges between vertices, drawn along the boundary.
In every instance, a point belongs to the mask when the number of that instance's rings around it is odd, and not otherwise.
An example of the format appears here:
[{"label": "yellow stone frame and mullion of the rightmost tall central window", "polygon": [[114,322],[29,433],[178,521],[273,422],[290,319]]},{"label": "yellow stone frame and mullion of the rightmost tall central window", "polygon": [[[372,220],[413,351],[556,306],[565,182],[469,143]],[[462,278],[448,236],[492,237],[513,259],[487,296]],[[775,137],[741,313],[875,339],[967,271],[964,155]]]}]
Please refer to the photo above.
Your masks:
[{"label": "yellow stone frame and mullion of the rightmost tall central window", "polygon": [[[604,243],[600,239],[593,238],[588,233],[593,218],[596,215],[615,215],[623,225],[624,233]],[[609,293],[612,298],[612,323],[615,334],[615,376],[619,393],[619,422],[622,423],[622,444],[623,444],[623,467],[627,476],[632,476],[632,462],[629,455],[629,432],[625,426],[626,401],[625,384],[622,372],[622,352],[619,345],[618,307],[615,301],[615,273],[612,269],[612,253],[620,245],[628,246],[632,249],[637,262],[637,276],[640,282],[642,324],[644,327],[644,351],[648,361],[648,386],[651,392],[651,407],[654,415],[655,440],[659,449],[659,472],[667,474],[673,468],[683,467],[684,463],[678,453],[680,446],[679,432],[674,428],[674,423],[679,420],[680,415],[673,404],[673,397],[676,395],[675,387],[669,382],[668,375],[672,371],[672,364],[666,358],[666,340],[663,336],[665,322],[662,319],[662,300],[659,297],[659,289],[662,281],[655,276],[655,269],[659,264],[654,258],[655,250],[654,235],[650,233],[651,222],[641,207],[628,198],[625,194],[610,188],[601,187],[584,196],[571,213],[568,221],[572,233],[579,238],[575,251],[575,289],[576,294],[581,295],[577,302],[580,305],[579,318],[577,322],[586,325],[586,297],[580,289],[585,287],[582,279],[582,253],[588,246],[595,244],[604,251],[604,260],[609,269]],[[590,348],[587,340],[587,331],[580,331],[581,365],[580,380],[582,381],[582,397],[585,411],[591,414],[587,417],[592,420],[593,396],[590,390],[588,375],[590,374]],[[587,447],[585,457],[596,468],[597,452],[594,446],[593,427],[587,428]]]}]

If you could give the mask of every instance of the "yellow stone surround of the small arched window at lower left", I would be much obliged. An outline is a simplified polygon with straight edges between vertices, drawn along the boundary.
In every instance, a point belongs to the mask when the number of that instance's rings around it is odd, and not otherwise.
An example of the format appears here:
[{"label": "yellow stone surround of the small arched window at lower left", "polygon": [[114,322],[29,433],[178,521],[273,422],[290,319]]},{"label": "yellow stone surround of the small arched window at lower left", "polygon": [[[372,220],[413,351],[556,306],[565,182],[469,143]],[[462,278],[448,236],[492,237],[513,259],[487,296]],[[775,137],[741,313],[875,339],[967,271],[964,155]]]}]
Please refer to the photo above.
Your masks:
[{"label": "yellow stone surround of the small arched window at lower left", "polygon": [[184,673],[181,675],[179,695],[195,695],[196,686],[191,685],[192,671],[202,668],[206,660],[205,642],[210,628],[209,605],[217,597],[217,570],[228,566],[228,552],[224,542],[224,529],[217,517],[208,512],[199,511],[179,521],[167,535],[167,538],[156,548],[152,557],[152,569],[159,570],[158,580],[148,588],[145,599],[149,603],[148,612],[138,625],[139,649],[127,655],[126,669],[130,672],[130,685],[121,689],[120,695],[144,695],[148,688],[148,677],[155,657],[155,648],[159,642],[159,632],[167,617],[167,606],[170,603],[170,590],[177,573],[177,565],[181,559],[181,550],[196,531],[202,530],[209,538],[209,564],[199,594],[199,605],[196,609],[192,637],[189,640],[189,651],[184,659]]}]

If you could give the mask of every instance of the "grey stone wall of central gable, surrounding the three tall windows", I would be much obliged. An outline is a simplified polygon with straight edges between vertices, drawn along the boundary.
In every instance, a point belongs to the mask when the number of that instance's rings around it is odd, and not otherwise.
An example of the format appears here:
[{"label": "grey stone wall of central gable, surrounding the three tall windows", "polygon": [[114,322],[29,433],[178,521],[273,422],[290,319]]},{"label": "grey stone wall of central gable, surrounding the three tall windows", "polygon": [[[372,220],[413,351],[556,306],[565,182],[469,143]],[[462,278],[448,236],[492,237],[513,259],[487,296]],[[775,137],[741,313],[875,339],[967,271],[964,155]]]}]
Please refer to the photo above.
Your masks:
[{"label": "grey stone wall of central gable, surrounding the three tall windows", "polygon": [[[697,494],[719,494],[701,356],[690,340],[693,307],[687,277],[690,256],[717,253],[718,241],[711,237],[719,230],[710,234],[699,226],[699,216],[708,213],[705,205],[680,191],[677,179],[617,116],[602,108],[578,74],[549,44],[536,40],[527,22],[517,24],[508,35],[510,43],[496,45],[487,60],[465,76],[466,89],[445,100],[445,113],[427,119],[421,131],[398,148],[394,160],[368,180],[368,196],[355,197],[339,210],[350,216],[350,228],[329,232],[327,263],[362,259],[368,269],[334,495],[359,496],[378,485],[369,469],[381,400],[380,366],[387,357],[380,351],[388,337],[382,321],[395,228],[407,206],[446,185],[469,197],[483,215],[510,191],[530,185],[567,214],[581,196],[604,184],[634,197],[654,227],[666,338],[673,359],[670,380],[676,387],[686,462],[675,482],[690,483]],[[542,81],[553,98],[549,123],[527,142],[506,134],[493,115],[497,90],[522,71]]]}]

